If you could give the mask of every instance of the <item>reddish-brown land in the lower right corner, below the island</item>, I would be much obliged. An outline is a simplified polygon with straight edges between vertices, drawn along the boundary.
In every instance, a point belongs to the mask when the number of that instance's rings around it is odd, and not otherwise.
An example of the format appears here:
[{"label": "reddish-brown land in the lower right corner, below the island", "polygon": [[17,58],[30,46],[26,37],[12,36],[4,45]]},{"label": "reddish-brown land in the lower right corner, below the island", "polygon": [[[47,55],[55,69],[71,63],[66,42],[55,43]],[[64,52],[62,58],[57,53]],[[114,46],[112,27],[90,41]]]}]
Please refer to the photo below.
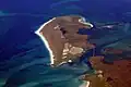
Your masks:
[{"label": "reddish-brown land in the lower right corner, below the island", "polygon": [[92,63],[96,74],[84,75],[83,80],[90,80],[90,87],[130,87],[131,86],[131,60],[117,60],[112,64],[103,62],[104,57],[92,57]]}]

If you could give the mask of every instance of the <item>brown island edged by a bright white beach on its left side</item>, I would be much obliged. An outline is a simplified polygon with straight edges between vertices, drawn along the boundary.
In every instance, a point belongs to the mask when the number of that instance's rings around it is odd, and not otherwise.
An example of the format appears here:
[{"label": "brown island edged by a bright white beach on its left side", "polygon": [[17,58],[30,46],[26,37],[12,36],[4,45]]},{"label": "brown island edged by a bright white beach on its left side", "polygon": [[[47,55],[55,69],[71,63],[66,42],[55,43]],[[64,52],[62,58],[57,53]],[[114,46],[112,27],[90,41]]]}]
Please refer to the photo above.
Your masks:
[{"label": "brown island edged by a bright white beach on its left side", "polygon": [[59,66],[80,58],[87,49],[94,48],[87,35],[79,34],[80,28],[91,29],[93,25],[80,15],[58,16],[44,23],[35,32],[50,53],[51,66]]}]

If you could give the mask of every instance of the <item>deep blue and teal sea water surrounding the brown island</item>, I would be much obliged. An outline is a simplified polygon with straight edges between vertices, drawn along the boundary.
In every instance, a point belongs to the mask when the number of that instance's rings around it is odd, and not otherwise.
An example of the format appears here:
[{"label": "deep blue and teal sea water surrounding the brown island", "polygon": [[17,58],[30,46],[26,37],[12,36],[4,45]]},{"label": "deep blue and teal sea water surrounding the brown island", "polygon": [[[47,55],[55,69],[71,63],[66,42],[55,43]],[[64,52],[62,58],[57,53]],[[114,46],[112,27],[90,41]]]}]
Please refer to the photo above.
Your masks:
[{"label": "deep blue and teal sea water surrounding the brown island", "polygon": [[[94,25],[131,23],[131,1],[0,0],[0,87],[80,87],[83,84],[79,76],[91,66],[81,63],[51,69],[48,50],[34,33],[48,20],[70,14],[82,15]],[[94,35],[91,42],[97,45],[98,54],[103,47],[131,36],[131,29],[124,26],[111,32],[84,33]]]}]

